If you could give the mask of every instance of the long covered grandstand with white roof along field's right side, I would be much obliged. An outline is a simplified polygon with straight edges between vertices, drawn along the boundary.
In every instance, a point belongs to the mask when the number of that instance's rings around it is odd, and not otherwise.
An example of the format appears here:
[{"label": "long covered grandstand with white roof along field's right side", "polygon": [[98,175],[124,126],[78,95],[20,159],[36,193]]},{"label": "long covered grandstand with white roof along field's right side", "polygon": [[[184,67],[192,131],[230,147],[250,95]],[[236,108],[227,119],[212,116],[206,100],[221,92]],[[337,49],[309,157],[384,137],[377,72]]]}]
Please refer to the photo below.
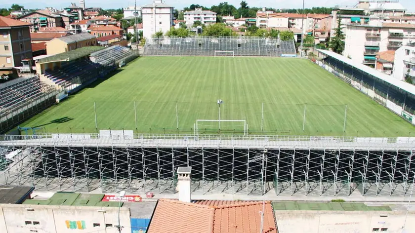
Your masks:
[{"label": "long covered grandstand with white roof along field's right side", "polygon": [[415,86],[327,50],[316,63],[379,104],[415,124]]}]

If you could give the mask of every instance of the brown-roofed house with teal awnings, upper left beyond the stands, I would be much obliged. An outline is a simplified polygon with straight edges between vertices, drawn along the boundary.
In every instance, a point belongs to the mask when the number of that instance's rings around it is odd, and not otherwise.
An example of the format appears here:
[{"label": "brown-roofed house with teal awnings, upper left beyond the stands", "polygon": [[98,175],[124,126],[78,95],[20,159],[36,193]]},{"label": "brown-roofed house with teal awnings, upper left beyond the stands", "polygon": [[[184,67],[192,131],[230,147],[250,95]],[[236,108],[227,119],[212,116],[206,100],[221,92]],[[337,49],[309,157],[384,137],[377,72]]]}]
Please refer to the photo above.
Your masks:
[{"label": "brown-roofed house with teal awnings, upper left beyond the stands", "polygon": [[41,28],[65,27],[62,16],[49,12],[33,11],[17,19],[32,24],[30,32],[39,31]]}]

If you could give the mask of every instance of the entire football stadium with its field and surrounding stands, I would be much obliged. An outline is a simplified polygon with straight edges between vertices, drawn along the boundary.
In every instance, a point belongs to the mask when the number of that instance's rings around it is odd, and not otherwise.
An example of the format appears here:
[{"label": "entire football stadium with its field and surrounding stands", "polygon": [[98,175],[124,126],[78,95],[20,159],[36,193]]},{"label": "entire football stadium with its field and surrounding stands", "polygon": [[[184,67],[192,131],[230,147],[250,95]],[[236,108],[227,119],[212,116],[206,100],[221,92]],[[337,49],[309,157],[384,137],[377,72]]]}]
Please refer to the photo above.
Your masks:
[{"label": "entire football stadium with its field and surrounding stands", "polygon": [[16,95],[1,100],[0,131],[20,134],[1,136],[1,184],[174,194],[177,168],[191,166],[196,194],[413,186],[415,87],[333,52],[207,37],[152,39],[138,58],[77,50],[1,86]]}]

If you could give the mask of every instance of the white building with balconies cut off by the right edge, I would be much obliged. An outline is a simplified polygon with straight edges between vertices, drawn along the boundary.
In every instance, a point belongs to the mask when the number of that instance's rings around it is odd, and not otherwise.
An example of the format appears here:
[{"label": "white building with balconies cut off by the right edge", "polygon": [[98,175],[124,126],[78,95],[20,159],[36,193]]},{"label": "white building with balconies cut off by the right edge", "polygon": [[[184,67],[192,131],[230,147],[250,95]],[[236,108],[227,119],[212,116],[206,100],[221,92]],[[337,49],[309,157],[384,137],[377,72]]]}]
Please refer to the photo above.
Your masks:
[{"label": "white building with balconies cut off by the right edge", "polygon": [[393,64],[394,78],[405,80],[409,76],[415,82],[415,42],[398,48]]}]

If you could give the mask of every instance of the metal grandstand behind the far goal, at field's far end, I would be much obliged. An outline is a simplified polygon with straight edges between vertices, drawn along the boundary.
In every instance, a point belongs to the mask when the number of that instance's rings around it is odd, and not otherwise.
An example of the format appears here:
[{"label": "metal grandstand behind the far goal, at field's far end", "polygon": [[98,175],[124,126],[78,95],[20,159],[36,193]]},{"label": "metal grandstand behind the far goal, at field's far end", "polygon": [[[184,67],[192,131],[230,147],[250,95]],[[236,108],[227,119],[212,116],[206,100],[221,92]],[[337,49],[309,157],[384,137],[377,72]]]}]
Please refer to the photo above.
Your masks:
[{"label": "metal grandstand behind the far goal, at field's far end", "polygon": [[296,55],[293,40],[260,37],[153,38],[144,47],[144,55],[148,56],[215,56],[224,51],[232,51],[230,56]]}]

